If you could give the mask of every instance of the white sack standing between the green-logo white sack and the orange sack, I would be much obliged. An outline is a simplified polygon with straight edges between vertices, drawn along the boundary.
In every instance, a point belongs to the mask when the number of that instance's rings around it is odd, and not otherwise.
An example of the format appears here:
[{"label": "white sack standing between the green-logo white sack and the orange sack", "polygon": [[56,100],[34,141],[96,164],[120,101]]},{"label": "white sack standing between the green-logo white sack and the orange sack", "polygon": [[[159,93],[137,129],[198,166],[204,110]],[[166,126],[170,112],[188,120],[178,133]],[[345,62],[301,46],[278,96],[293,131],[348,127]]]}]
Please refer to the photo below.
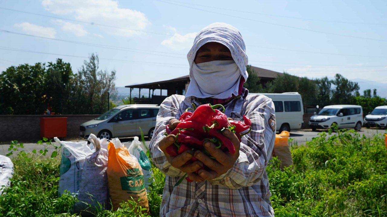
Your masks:
[{"label": "white sack standing between the green-logo white sack and the orange sack", "polygon": [[[80,184],[78,200],[75,204],[75,212],[82,212],[82,216],[92,214],[96,207],[101,205],[106,209],[108,205],[108,141],[98,139],[94,134],[90,134],[87,139],[91,142],[94,153],[86,156],[86,160],[80,170]],[[89,205],[91,207],[88,209]],[[98,204],[99,203],[99,204]]]}]

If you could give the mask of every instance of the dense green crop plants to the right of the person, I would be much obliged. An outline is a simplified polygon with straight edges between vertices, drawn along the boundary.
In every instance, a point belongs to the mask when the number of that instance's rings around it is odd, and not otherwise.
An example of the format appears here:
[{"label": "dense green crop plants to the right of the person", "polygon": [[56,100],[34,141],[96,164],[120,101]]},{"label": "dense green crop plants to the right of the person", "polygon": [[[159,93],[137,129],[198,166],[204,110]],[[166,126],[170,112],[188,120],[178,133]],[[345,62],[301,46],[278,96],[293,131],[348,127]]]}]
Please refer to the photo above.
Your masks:
[{"label": "dense green crop plants to the right of the person", "polygon": [[387,216],[384,137],[322,132],[291,146],[293,166],[267,168],[275,216]]}]

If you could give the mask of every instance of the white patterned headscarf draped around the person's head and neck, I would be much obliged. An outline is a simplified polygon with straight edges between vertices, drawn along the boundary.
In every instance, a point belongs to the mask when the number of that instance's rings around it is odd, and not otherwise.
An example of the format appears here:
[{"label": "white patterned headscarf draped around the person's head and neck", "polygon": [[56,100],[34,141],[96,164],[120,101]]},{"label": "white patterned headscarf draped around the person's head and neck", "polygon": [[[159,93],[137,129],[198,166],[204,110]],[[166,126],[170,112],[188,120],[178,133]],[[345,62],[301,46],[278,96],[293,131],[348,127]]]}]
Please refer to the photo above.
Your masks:
[{"label": "white patterned headscarf draped around the person's head and neck", "polygon": [[[208,94],[200,89],[197,81],[194,78],[193,70],[196,67],[194,59],[196,52],[201,46],[208,42],[217,42],[223,44],[231,51],[231,56],[233,57],[236,65],[239,68],[240,76],[247,81],[248,74],[246,71],[246,66],[248,64],[248,58],[246,54],[246,46],[243,38],[235,27],[226,23],[213,23],[202,29],[195,37],[194,45],[187,54],[188,63],[190,64],[190,84],[188,86],[187,93],[185,95],[187,103],[190,103],[190,97],[198,98],[217,98],[217,99],[226,99],[232,96],[235,93],[235,86],[239,86],[239,80],[236,85],[233,85],[228,90],[218,93],[218,94]],[[228,78],[224,78],[228,79]],[[236,82],[229,81],[229,82]]]}]

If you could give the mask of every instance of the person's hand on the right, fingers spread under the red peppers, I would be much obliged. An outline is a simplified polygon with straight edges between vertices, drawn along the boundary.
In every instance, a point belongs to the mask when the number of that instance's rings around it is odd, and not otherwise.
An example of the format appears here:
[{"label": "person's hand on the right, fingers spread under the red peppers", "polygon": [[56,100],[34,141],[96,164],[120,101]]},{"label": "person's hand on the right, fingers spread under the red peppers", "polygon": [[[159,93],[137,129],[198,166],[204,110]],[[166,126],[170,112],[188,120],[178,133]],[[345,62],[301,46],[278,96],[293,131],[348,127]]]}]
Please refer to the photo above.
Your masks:
[{"label": "person's hand on the right, fingers spread under the red peppers", "polygon": [[[195,177],[199,176],[202,179],[205,180],[212,180],[220,175],[223,175],[224,173],[227,173],[227,171],[234,166],[235,161],[239,157],[239,148],[240,148],[240,142],[238,137],[231,132],[229,129],[225,129],[223,131],[223,135],[226,136],[228,139],[233,142],[235,146],[235,154],[230,153],[224,153],[221,149],[216,149],[216,145],[210,141],[204,142],[204,148],[209,152],[209,154],[216,158],[212,159],[206,154],[204,154],[201,151],[195,151],[195,158],[197,158],[199,161],[201,161],[205,166],[209,168],[209,170],[200,169],[198,171],[198,174],[194,173],[188,173],[188,176],[191,178],[191,176]],[[195,176],[196,175],[196,176]]]}]

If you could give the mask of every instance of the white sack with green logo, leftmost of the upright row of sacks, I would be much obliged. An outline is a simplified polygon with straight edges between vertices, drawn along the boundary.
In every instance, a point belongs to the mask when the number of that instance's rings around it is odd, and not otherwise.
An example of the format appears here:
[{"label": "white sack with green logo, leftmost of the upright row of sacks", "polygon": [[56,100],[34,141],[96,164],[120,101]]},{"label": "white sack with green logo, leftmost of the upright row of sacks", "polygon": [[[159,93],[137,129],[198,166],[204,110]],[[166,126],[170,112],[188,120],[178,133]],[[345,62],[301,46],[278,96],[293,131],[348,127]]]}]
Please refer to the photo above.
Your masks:
[{"label": "white sack with green logo, leftmost of the upright row of sacks", "polygon": [[87,141],[65,142],[54,138],[62,147],[62,159],[59,166],[59,196],[65,190],[70,193],[78,193],[80,181],[80,169],[85,162],[86,156],[92,154]]}]

